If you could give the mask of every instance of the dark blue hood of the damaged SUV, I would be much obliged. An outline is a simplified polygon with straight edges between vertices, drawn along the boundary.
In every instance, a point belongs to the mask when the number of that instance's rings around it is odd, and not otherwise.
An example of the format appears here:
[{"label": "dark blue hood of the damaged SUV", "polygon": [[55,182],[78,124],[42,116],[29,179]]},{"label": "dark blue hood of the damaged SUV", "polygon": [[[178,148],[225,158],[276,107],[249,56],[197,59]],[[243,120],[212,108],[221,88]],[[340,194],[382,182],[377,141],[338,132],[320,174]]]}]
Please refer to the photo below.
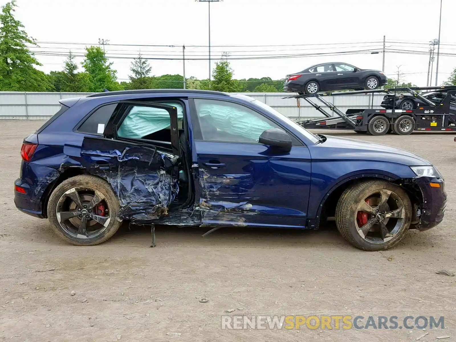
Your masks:
[{"label": "dark blue hood of the damaged SUV", "polygon": [[[312,146],[312,158],[386,161],[406,166],[432,165],[415,153],[373,142],[325,135],[326,141]],[[315,148],[315,149],[314,149]]]}]

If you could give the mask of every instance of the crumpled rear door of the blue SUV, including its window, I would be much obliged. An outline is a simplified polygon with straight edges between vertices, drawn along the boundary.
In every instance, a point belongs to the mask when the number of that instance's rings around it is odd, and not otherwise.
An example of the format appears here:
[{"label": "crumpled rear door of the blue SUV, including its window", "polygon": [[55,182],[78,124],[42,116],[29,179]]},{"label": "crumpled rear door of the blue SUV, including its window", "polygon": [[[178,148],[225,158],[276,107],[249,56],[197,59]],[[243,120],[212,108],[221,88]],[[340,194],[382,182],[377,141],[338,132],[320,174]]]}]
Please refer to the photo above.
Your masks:
[{"label": "crumpled rear door of the blue SUV, including its window", "polygon": [[[170,141],[160,138],[166,126]],[[166,216],[179,194],[176,106],[120,102],[104,137],[84,138],[81,156],[91,174],[111,184],[119,198],[118,219],[145,223]]]}]

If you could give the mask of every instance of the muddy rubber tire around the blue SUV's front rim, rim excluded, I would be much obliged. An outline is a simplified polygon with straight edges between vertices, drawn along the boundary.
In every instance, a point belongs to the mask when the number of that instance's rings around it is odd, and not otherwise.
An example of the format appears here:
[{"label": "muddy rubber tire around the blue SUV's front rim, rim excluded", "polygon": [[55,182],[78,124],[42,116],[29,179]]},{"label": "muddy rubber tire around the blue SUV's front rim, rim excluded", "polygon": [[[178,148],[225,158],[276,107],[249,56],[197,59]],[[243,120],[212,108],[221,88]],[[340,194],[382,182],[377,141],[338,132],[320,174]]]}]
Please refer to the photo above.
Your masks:
[{"label": "muddy rubber tire around the blue SUV's front rim, rim excluded", "polygon": [[[358,233],[358,204],[379,190],[393,192],[404,204],[404,221],[397,233],[382,243],[372,243]],[[336,206],[336,225],[341,235],[353,246],[367,251],[389,249],[404,237],[410,226],[412,205],[407,193],[401,187],[383,180],[363,181],[348,187],[339,198]]]}]

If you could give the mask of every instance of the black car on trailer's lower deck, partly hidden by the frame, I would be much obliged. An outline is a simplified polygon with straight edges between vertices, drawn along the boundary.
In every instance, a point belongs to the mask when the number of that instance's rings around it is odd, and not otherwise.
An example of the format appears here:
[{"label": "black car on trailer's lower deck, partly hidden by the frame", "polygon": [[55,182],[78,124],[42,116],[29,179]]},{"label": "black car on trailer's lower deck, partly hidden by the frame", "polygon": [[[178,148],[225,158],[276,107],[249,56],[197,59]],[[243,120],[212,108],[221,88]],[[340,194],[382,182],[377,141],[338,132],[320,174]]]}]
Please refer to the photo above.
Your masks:
[{"label": "black car on trailer's lower deck, partly hidden by the frame", "polygon": [[[421,95],[436,106],[440,105],[440,103],[445,99],[446,93],[441,92],[426,92],[421,93]],[[383,101],[381,106],[386,109],[393,109],[393,102],[394,102],[394,94],[388,94],[383,97]],[[394,109],[403,109],[403,110],[410,110],[416,109],[418,106],[428,106],[429,104],[424,103],[424,101],[420,98],[413,96],[412,94],[396,94],[396,101]],[[451,96],[451,105],[456,106],[456,97]]]}]

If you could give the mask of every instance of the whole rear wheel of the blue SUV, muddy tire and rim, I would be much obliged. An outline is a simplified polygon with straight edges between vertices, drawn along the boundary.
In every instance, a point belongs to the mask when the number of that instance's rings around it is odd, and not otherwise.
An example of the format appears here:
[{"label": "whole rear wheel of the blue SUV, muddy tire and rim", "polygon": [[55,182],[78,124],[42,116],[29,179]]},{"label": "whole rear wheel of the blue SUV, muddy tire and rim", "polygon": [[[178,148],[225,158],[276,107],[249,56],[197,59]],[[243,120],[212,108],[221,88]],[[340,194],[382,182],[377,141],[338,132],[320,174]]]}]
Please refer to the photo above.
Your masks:
[{"label": "whole rear wheel of the blue SUV, muddy tire and rim", "polygon": [[109,184],[81,175],[63,181],[52,192],[47,217],[52,229],[77,246],[101,244],[119,229],[119,200]]}]

